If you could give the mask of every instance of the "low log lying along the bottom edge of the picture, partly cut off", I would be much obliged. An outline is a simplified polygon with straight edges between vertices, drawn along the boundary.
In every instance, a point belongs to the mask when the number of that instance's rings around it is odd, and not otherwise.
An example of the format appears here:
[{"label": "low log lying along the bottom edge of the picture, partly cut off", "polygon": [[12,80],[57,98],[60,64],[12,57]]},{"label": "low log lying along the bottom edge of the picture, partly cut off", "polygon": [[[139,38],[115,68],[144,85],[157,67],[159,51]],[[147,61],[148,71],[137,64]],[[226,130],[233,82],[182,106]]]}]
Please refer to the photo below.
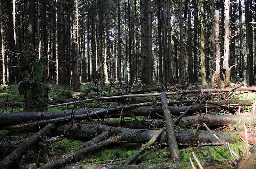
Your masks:
[{"label": "low log lying along the bottom edge of the picture, partly cut off", "polygon": [[[217,163],[214,161],[201,161],[201,165],[204,169],[218,169],[218,168],[231,168],[232,165],[228,161]],[[199,166],[194,163],[196,168]],[[67,165],[64,169],[99,169],[99,168],[108,168],[108,169],[159,169],[159,168],[172,168],[172,169],[193,169],[191,163],[167,163],[167,164],[153,164],[153,165]]]}]

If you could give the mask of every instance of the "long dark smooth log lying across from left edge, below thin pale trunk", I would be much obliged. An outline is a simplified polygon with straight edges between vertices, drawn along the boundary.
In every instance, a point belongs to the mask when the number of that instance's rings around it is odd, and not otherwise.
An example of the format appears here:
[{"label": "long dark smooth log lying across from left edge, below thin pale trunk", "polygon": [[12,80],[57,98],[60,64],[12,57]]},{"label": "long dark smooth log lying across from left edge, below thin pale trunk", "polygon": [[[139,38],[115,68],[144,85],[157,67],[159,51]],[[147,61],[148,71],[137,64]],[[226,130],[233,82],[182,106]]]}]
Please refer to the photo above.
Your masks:
[{"label": "long dark smooth log lying across from left edge, below thin pale trunk", "polygon": [[[125,109],[125,106],[119,106],[120,109],[116,108],[111,108],[111,109],[106,109],[105,112],[108,112],[108,116],[111,118],[114,117],[120,117],[120,110],[121,108],[124,108],[124,111],[122,112],[122,116],[130,116],[130,114],[134,114],[135,116],[148,116],[148,115],[155,115],[160,114],[162,115],[162,108],[161,106],[143,106],[146,104],[151,104],[151,103],[145,103],[145,104],[134,104],[126,106],[129,107],[129,109]],[[143,106],[143,107],[138,107],[138,106]],[[193,113],[193,112],[204,112],[206,110],[206,105],[207,105],[207,110],[211,109],[218,109],[218,108],[223,108],[223,109],[229,109],[230,106],[248,106],[252,105],[249,101],[243,100],[243,101],[228,101],[228,102],[211,102],[211,103],[202,103],[202,104],[195,104],[191,107],[188,113]],[[137,107],[137,108],[134,108]],[[180,106],[180,107],[170,107],[170,112],[173,115],[179,115],[180,112],[184,112],[189,108],[189,106]],[[77,109],[75,110],[74,116],[76,115],[83,115],[83,114],[88,114],[91,113],[90,118],[98,118],[98,117],[104,117],[102,116],[96,116],[95,114],[93,115],[92,112],[96,111],[101,111],[102,109]],[[64,116],[71,116],[72,110],[66,110],[66,111],[47,111],[47,112],[22,112],[22,113],[4,113],[0,114],[0,130],[1,126],[8,126],[8,125],[13,125],[13,124],[20,124],[20,123],[28,123],[28,122],[37,122],[37,121],[42,121],[42,120],[49,120],[49,119],[54,119],[54,118],[59,118],[59,117],[64,117]],[[6,128],[7,129],[7,128]]]}]

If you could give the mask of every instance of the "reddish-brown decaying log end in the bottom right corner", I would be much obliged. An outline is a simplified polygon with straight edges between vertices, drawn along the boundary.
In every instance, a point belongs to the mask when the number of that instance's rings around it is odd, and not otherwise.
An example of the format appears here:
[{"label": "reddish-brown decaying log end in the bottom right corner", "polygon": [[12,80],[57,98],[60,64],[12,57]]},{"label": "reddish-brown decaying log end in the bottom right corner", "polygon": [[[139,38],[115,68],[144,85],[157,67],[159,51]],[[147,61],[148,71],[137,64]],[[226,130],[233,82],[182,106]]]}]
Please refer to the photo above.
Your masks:
[{"label": "reddish-brown decaying log end in the bottom right corner", "polygon": [[244,155],[242,156],[242,158],[240,158],[240,160],[238,161],[238,164],[236,167],[234,167],[234,169],[240,169],[240,168],[255,168],[256,166],[256,146],[254,145],[251,149],[250,149],[250,156],[246,157],[246,154],[244,153]]}]

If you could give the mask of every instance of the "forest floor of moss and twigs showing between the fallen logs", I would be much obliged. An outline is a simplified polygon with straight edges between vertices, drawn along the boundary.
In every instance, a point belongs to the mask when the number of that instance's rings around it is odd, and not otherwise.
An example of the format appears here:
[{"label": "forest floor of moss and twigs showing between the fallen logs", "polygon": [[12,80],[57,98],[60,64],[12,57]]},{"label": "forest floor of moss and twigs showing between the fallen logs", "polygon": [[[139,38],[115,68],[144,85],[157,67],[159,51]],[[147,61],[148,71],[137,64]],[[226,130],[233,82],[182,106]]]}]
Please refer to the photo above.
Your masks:
[{"label": "forest floor of moss and twigs showing between the fallen logs", "polygon": [[[155,86],[152,86],[151,88],[161,88],[161,85],[159,83],[156,83]],[[188,90],[188,89],[201,89],[202,86],[200,84],[189,84],[186,88],[177,89],[176,87],[169,89],[169,91],[175,90]],[[204,88],[211,88],[211,86],[206,86]],[[89,90],[88,90],[89,89]],[[96,89],[98,89],[96,91]],[[107,90],[105,90],[107,89]],[[117,84],[111,84],[106,83],[105,88],[101,88],[100,86],[93,86],[91,83],[83,83],[82,87],[77,92],[72,92],[72,87],[63,87],[57,84],[49,84],[49,98],[50,100],[70,100],[70,99],[78,99],[82,98],[82,95],[85,93],[86,96],[84,98],[91,98],[91,97],[100,97],[102,95],[111,95],[119,93],[128,93],[127,91],[136,91],[141,89],[141,84],[135,83],[132,87],[129,86],[129,84],[119,86]],[[105,91],[103,91],[105,90]],[[175,91],[174,90],[174,91]],[[121,92],[120,92],[121,91]],[[161,91],[152,91],[147,93],[157,93]],[[171,95],[168,96],[168,99],[180,101],[180,100],[201,100],[201,101],[222,101],[223,98],[227,94],[225,92],[221,93],[205,93],[205,94],[198,94],[198,93],[188,93],[184,95]],[[159,96],[151,96],[152,101],[159,102],[160,97]],[[255,102],[256,99],[256,92],[234,92],[230,93],[227,100],[248,100],[250,102]],[[23,106],[11,106],[12,103],[20,103],[24,102],[24,96],[19,95],[18,87],[16,85],[12,86],[2,86],[0,87],[0,113],[15,113],[15,112],[22,112]],[[92,102],[80,102],[78,104],[72,104],[72,105],[64,105],[64,106],[58,106],[58,107],[52,107],[49,108],[49,111],[67,111],[67,110],[73,110],[73,109],[88,109],[88,108],[103,108],[108,109],[110,106],[119,106],[119,105],[126,105],[130,103],[136,103],[136,101],[133,101],[130,99],[129,101],[127,99],[123,99],[122,101],[118,102],[110,102],[106,100],[95,100]],[[181,104],[179,104],[181,106]],[[182,105],[183,106],[183,105]],[[243,106],[241,109],[241,116],[243,115],[252,115],[252,111],[255,109],[255,105],[253,103],[249,106]],[[235,111],[234,111],[235,110]],[[206,109],[207,111],[207,109]],[[239,110],[240,111],[240,110]],[[212,109],[208,110],[207,114],[216,114],[216,113],[222,113],[222,114],[235,114],[237,115],[238,109]],[[201,115],[204,114],[204,112],[193,112],[191,115]],[[130,117],[122,117],[123,121],[136,121],[136,120],[148,120],[149,116],[130,116]],[[154,118],[160,118],[154,117]],[[106,121],[119,121],[118,118],[107,118]],[[0,119],[1,121],[1,119]],[[101,119],[94,119],[94,121],[101,121]],[[79,121],[79,123],[87,123],[88,120],[82,120]],[[0,122],[1,123],[1,122]],[[65,122],[64,122],[65,123]],[[68,123],[68,122],[67,122]],[[67,124],[66,123],[66,124]],[[246,123],[247,128],[250,131],[255,132],[254,127],[255,121],[250,123]],[[62,126],[62,123],[58,123],[58,125]],[[244,130],[244,125],[240,123],[236,123],[234,125],[219,125],[216,124],[214,126],[210,127],[212,130],[219,130],[219,131],[233,131],[233,130]],[[174,126],[175,131],[176,130],[185,130],[185,129],[192,129],[196,130],[197,127],[185,127],[183,125],[175,125]],[[24,128],[24,129],[14,129],[14,130],[0,130],[0,142],[6,142],[6,141],[17,141],[20,139],[28,139],[33,135],[37,128]],[[202,129],[205,130],[205,129]],[[50,136],[49,136],[50,137]],[[63,139],[60,141],[50,143],[50,144],[44,144],[44,154],[48,155],[48,160],[50,162],[53,162],[64,155],[68,154],[70,151],[74,149],[78,149],[81,145],[84,144],[83,139],[77,139],[75,137],[66,137],[64,136]],[[146,144],[146,143],[144,143]],[[141,147],[142,143],[125,143],[120,142],[115,145],[111,145],[108,147],[105,147],[103,149],[100,149],[98,151],[93,151],[89,154],[87,154],[82,160],[79,161],[79,164],[84,165],[108,165],[111,163],[113,159],[114,165],[123,165],[125,162],[130,159]],[[242,155],[246,151],[246,144],[242,141],[235,141],[233,143],[230,143],[230,148],[236,152],[236,154],[239,155],[239,157],[242,157]],[[39,164],[39,166],[45,165],[46,161],[44,158],[38,158],[39,150],[41,149],[42,145],[36,144],[34,145],[29,151],[22,156],[22,159],[19,161],[19,164],[21,165],[31,165],[35,167],[35,164]],[[252,145],[250,145],[252,147]],[[232,161],[234,162],[234,158],[231,156],[230,151],[223,145],[179,145],[179,152],[180,152],[180,162],[183,163],[190,163],[190,158],[192,158],[192,161],[195,162],[192,152],[195,153],[197,159],[199,161],[207,161],[209,159],[215,159],[221,162],[224,161]],[[0,160],[4,158],[4,155],[0,155]],[[236,159],[238,161],[238,159]],[[172,158],[170,158],[170,150],[168,149],[168,145],[162,144],[160,146],[153,146],[152,148],[146,150],[142,155],[139,156],[139,158],[133,163],[133,165],[154,165],[154,164],[163,164],[163,163],[172,163]],[[73,165],[77,165],[78,163],[71,163]]]}]

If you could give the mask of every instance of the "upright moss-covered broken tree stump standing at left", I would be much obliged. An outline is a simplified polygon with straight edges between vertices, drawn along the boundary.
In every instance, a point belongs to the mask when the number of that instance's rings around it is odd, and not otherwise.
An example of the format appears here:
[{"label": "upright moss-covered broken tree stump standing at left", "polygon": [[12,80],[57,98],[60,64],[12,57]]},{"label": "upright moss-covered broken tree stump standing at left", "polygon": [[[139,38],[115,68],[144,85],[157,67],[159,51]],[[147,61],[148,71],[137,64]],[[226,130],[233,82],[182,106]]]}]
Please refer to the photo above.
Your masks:
[{"label": "upright moss-covered broken tree stump standing at left", "polygon": [[24,92],[26,103],[23,112],[48,110],[47,64],[48,59],[44,56],[36,61],[32,44],[23,46],[20,57],[23,81],[18,84]]}]

